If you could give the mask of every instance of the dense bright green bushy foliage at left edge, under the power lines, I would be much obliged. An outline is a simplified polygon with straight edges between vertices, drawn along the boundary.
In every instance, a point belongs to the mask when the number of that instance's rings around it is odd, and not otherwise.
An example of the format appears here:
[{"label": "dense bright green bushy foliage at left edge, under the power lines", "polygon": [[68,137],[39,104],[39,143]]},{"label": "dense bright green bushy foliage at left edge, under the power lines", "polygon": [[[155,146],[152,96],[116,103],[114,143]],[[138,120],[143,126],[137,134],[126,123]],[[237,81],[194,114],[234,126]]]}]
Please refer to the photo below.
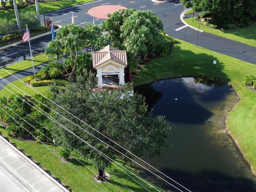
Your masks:
[{"label": "dense bright green bushy foliage at left edge, under the power lines", "polygon": [[38,140],[48,141],[51,135],[46,126],[48,120],[46,116],[50,110],[41,104],[49,106],[46,98],[39,94],[33,97],[17,94],[9,98],[1,98],[0,101],[0,118],[8,123],[6,129],[9,134],[22,138],[32,133]]}]

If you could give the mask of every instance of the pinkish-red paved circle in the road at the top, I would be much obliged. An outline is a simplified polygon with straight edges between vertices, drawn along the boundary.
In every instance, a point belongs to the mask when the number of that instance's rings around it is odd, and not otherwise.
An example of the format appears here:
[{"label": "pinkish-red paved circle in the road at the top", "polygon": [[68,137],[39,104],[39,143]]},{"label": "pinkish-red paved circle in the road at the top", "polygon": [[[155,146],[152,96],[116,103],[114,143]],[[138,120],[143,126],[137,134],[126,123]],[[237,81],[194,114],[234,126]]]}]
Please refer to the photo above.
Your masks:
[{"label": "pinkish-red paved circle in the road at the top", "polygon": [[88,10],[88,14],[96,18],[106,19],[108,18],[107,14],[112,14],[113,12],[118,11],[120,9],[127,9],[127,8],[119,5],[102,5],[102,6],[90,8]]}]

